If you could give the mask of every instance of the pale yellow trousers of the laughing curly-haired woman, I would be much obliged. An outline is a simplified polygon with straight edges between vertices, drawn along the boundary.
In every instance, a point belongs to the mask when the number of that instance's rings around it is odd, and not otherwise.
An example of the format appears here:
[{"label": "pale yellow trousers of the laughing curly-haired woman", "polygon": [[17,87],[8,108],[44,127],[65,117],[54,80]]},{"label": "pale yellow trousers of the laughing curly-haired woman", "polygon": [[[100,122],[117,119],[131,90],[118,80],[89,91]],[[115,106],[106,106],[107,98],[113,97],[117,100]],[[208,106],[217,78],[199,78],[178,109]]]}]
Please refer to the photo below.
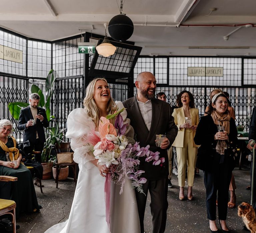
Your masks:
[{"label": "pale yellow trousers of the laughing curly-haired woman", "polygon": [[179,186],[185,186],[186,168],[188,176],[188,186],[193,186],[197,147],[193,147],[193,136],[191,129],[185,129],[183,147],[176,147],[178,161],[178,181]]}]

